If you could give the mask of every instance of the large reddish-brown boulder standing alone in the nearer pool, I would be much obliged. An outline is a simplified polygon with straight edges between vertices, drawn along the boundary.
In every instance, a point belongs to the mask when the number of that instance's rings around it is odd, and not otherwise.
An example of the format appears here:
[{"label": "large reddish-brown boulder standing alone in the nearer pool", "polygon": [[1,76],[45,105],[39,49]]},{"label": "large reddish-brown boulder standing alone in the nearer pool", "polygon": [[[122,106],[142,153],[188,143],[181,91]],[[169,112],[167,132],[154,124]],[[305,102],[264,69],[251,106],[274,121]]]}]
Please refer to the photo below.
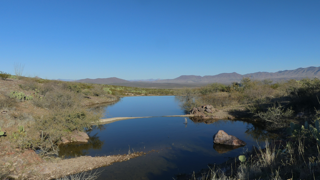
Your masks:
[{"label": "large reddish-brown boulder standing alone in the nearer pool", "polygon": [[247,144],[233,135],[228,135],[222,130],[219,130],[215,135],[213,135],[213,143],[233,146],[242,146]]}]

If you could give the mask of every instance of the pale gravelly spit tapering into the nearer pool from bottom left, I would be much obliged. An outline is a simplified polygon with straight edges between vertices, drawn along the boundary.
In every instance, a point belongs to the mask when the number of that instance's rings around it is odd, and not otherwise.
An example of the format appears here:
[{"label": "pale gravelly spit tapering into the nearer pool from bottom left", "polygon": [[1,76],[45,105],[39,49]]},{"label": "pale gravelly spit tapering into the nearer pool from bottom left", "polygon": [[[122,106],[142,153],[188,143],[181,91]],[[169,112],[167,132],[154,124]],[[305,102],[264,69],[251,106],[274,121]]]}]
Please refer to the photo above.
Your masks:
[{"label": "pale gravelly spit tapering into the nearer pool from bottom left", "polygon": [[16,179],[52,179],[111,165],[114,162],[127,161],[146,155],[134,152],[130,155],[113,155],[102,157],[81,156],[72,159],[43,160],[33,150],[7,153],[0,158],[1,170]]}]

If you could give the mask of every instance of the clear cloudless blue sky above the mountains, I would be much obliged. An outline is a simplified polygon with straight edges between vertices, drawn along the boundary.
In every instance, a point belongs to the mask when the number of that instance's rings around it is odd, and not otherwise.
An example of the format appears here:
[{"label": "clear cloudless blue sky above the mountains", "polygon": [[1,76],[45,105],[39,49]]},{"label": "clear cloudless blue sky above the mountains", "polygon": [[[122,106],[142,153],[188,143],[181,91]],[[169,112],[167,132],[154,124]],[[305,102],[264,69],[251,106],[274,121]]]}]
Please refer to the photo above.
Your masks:
[{"label": "clear cloudless blue sky above the mountains", "polygon": [[320,66],[320,1],[0,1],[0,70],[177,78]]}]

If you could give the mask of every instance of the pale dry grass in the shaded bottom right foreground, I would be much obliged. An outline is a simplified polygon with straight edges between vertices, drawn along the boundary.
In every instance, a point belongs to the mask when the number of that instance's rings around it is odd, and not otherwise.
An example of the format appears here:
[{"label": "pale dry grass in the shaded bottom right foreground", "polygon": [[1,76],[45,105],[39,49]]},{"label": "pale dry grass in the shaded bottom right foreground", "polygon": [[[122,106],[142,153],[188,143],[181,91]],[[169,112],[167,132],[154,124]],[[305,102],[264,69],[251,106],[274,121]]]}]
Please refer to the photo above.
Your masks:
[{"label": "pale dry grass in the shaded bottom right foreground", "polygon": [[[283,143],[268,143],[266,147],[254,148],[244,153],[245,161],[236,159],[233,168],[214,167],[202,180],[248,180],[248,179],[319,179],[320,151],[317,145],[306,146],[303,139]],[[195,176],[192,179],[196,179]]]}]

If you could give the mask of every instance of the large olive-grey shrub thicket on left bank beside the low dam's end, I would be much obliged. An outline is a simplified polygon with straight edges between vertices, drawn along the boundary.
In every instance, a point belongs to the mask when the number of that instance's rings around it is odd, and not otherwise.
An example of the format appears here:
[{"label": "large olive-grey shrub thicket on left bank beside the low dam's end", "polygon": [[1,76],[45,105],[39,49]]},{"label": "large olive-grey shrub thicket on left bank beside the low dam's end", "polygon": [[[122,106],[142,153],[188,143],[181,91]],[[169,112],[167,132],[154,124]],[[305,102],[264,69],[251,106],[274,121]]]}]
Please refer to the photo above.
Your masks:
[{"label": "large olive-grey shrub thicket on left bank beside the low dam's end", "polygon": [[38,118],[38,124],[41,125],[39,128],[42,129],[84,130],[101,117],[101,112],[87,110],[81,105],[80,96],[68,90],[52,90],[34,103],[38,107],[49,109],[46,116]]}]

